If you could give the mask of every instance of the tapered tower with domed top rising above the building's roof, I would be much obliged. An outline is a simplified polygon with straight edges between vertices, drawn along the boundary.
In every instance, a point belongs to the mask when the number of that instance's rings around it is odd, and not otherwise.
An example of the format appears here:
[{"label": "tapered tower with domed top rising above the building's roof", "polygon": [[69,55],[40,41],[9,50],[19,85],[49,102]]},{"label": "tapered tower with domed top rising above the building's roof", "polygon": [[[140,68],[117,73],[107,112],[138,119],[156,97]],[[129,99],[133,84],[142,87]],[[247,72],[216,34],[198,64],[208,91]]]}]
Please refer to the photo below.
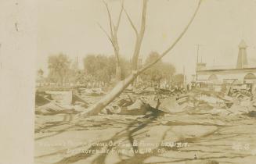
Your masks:
[{"label": "tapered tower with domed top rising above the building's roof", "polygon": [[238,52],[238,57],[236,62],[236,69],[242,69],[248,65],[247,45],[245,41],[242,40],[238,45],[238,48],[239,48],[239,52]]}]

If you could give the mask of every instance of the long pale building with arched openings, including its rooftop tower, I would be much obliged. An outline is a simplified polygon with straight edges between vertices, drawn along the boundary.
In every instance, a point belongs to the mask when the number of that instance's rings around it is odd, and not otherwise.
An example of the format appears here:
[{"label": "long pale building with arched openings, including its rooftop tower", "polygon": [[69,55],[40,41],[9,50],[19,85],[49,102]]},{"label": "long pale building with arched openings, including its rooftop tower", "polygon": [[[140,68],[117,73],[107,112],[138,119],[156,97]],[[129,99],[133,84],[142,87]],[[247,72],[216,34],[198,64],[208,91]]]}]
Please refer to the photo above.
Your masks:
[{"label": "long pale building with arched openings, including its rooftop tower", "polygon": [[256,84],[256,66],[249,66],[247,60],[247,45],[241,41],[238,46],[239,52],[236,67],[215,69],[207,68],[206,63],[197,62],[197,74],[195,80],[201,86],[234,84],[254,87]]}]

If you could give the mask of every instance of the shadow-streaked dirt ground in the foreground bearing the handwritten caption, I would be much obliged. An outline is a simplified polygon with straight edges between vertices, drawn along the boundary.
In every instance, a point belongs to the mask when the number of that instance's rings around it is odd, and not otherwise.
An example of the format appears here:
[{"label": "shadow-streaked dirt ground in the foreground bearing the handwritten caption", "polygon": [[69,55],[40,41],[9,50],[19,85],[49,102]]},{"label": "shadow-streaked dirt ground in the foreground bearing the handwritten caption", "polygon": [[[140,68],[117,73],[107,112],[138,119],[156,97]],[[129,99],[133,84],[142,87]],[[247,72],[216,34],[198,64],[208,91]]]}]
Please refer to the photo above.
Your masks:
[{"label": "shadow-streaked dirt ground in the foreground bearing the handwritten caption", "polygon": [[[195,109],[197,110],[197,109]],[[189,164],[256,161],[256,119],[176,113],[102,115],[63,121],[36,116],[34,163]]]}]

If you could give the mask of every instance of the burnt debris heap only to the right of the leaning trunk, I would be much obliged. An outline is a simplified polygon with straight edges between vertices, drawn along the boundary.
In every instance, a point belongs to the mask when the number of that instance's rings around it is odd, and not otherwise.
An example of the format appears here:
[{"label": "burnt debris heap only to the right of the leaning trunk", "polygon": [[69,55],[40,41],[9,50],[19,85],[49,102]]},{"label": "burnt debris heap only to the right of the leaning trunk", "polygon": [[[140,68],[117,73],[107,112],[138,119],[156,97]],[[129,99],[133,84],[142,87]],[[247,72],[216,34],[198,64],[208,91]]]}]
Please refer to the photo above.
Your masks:
[{"label": "burnt debris heap only to the right of the leaning trunk", "polygon": [[[125,98],[126,97],[126,98]],[[118,104],[126,102],[130,106]],[[145,115],[147,112],[208,113],[212,115],[240,115],[254,112],[256,101],[248,91],[177,91],[146,87],[129,87],[124,94],[104,109],[106,114]],[[134,112],[136,111],[136,112]]]}]

